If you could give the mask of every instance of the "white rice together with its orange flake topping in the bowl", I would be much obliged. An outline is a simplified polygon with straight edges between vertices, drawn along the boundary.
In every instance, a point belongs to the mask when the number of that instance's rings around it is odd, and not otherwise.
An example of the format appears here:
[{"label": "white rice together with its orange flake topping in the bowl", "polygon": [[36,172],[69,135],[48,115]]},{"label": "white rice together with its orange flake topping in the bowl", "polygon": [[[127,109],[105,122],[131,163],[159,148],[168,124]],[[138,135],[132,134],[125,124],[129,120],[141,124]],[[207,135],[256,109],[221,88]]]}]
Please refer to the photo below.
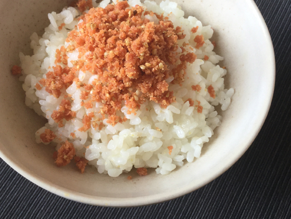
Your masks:
[{"label": "white rice together with its orange flake topping in the bowl", "polygon": [[55,144],[55,163],[72,160],[116,177],[137,168],[169,174],[198,158],[220,125],[234,89],[213,52],[213,29],[184,18],[177,3],[79,0],[49,14],[34,55],[20,53],[25,103],[48,123],[36,141]]}]

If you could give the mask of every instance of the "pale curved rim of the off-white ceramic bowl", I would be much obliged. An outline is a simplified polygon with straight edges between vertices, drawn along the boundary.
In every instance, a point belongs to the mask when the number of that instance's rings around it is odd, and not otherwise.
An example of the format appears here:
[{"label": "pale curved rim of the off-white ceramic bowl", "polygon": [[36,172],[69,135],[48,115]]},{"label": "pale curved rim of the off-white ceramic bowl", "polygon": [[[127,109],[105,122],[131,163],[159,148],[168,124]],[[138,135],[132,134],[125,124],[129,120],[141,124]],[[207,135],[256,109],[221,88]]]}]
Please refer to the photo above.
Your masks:
[{"label": "pale curved rim of the off-white ceramic bowl", "polygon": [[263,16],[261,15],[258,6],[256,5],[254,0],[247,0],[245,1],[246,4],[251,4],[250,7],[253,7],[255,12],[259,17],[259,25],[266,36],[266,44],[268,46],[269,57],[270,57],[270,77],[269,81],[272,84],[272,88],[269,90],[269,93],[266,94],[266,107],[262,109],[262,114],[259,117],[259,122],[256,123],[253,127],[254,132],[249,139],[242,143],[236,150],[236,153],[231,158],[225,160],[222,165],[217,165],[215,168],[210,170],[209,176],[204,178],[199,184],[197,185],[189,185],[183,188],[177,188],[176,190],[172,190],[171,193],[164,192],[159,194],[153,194],[143,197],[129,197],[129,198],[109,198],[109,197],[97,197],[86,195],[77,191],[68,190],[51,182],[47,182],[42,177],[38,177],[30,170],[24,170],[21,165],[16,164],[13,162],[8,156],[6,156],[0,150],[0,157],[3,161],[5,161],[10,167],[12,167],[17,173],[24,176],[32,183],[40,186],[41,188],[48,190],[56,195],[61,197],[70,199],[72,201],[85,203],[85,204],[92,204],[92,205],[99,205],[99,206],[112,206],[112,207],[133,207],[133,206],[143,206],[149,204],[157,204],[165,201],[169,201],[175,198],[178,198],[182,195],[188,194],[194,190],[197,190],[206,184],[210,183],[212,180],[217,178],[218,176],[222,175],[226,170],[228,170],[236,161],[238,161],[245,151],[251,146],[257,135],[259,134],[260,129],[262,128],[264,121],[268,115],[271,102],[273,99],[274,89],[275,89],[275,52],[274,47],[271,39],[271,35],[269,33],[268,27],[265,23]]}]

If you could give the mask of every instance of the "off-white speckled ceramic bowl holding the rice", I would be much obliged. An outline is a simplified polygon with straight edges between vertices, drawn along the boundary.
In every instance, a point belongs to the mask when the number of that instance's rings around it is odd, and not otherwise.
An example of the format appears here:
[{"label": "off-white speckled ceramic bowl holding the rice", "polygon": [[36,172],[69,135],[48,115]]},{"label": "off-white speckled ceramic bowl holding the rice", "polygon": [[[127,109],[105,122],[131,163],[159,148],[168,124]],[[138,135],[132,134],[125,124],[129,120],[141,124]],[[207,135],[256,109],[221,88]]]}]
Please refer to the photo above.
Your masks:
[{"label": "off-white speckled ceramic bowl holding the rice", "polygon": [[[186,16],[214,29],[216,52],[225,58],[226,87],[235,88],[222,125],[199,159],[169,175],[145,177],[81,175],[74,164],[54,165],[53,147],[37,145],[34,132],[45,120],[24,104],[24,91],[10,74],[18,53],[31,53],[29,37],[42,33],[47,14],[62,0],[0,0],[0,157],[19,174],[57,195],[87,204],[137,206],[159,203],[194,191],[224,173],[251,145],[270,107],[275,82],[274,50],[253,0],[176,0]],[[92,173],[91,173],[92,172]]]}]

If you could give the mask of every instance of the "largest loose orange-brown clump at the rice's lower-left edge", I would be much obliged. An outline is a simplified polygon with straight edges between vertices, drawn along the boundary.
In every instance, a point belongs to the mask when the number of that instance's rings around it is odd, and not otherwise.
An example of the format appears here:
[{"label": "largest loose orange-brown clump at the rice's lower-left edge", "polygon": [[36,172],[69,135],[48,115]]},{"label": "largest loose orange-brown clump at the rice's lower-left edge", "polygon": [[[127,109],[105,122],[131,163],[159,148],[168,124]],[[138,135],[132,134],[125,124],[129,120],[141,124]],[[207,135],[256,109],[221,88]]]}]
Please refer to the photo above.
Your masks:
[{"label": "largest loose orange-brown clump at the rice's lower-left edge", "polygon": [[58,156],[55,163],[57,166],[65,166],[71,162],[76,154],[75,147],[72,143],[65,141],[58,150]]}]

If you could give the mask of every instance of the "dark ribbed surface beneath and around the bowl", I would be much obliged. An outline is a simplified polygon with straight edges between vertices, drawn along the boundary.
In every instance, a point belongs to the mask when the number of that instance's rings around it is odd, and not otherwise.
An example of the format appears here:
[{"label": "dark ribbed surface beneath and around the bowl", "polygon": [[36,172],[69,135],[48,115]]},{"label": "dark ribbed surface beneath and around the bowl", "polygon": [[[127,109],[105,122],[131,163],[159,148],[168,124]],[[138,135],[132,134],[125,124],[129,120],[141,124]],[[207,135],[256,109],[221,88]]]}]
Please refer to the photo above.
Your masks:
[{"label": "dark ribbed surface beneath and around the bowl", "polygon": [[291,0],[255,1],[275,48],[275,93],[258,137],[225,174],[169,202],[109,208],[56,196],[0,159],[0,219],[291,219]]}]

